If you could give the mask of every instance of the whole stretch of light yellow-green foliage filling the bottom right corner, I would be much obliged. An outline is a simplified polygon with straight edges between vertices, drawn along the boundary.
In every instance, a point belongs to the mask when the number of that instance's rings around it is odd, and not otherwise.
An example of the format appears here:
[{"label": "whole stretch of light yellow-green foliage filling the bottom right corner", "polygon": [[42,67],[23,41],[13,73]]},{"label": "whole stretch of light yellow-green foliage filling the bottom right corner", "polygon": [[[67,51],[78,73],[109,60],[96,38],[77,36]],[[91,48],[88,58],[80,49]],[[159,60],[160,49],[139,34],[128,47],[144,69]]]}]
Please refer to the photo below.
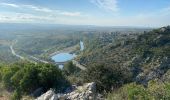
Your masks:
[{"label": "whole stretch of light yellow-green foliage filling the bottom right corner", "polygon": [[150,81],[147,88],[135,83],[127,84],[119,90],[109,93],[108,100],[169,100],[170,84]]}]

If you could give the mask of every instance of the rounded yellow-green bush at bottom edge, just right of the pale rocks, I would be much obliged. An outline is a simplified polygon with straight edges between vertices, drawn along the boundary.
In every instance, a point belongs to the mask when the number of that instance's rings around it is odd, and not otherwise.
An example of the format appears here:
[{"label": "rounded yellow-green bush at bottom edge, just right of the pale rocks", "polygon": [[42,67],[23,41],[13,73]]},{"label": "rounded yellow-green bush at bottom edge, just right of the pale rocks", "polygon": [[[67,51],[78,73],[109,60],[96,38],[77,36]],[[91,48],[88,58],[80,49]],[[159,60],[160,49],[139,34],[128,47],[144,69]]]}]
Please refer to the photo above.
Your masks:
[{"label": "rounded yellow-green bush at bottom edge, just right of the pale rocks", "polygon": [[107,95],[107,100],[154,100],[142,85],[127,84]]}]

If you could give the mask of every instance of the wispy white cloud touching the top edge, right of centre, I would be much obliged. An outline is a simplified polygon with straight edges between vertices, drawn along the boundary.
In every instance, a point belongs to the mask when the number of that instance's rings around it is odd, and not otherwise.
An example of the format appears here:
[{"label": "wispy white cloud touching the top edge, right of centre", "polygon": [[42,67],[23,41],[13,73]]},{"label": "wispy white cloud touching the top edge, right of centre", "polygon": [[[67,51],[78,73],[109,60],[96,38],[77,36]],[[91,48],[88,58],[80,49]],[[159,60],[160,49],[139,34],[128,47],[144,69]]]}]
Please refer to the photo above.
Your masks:
[{"label": "wispy white cloud touching the top edge, right of centre", "polygon": [[91,0],[91,2],[97,5],[99,8],[103,8],[113,12],[118,11],[117,0]]}]

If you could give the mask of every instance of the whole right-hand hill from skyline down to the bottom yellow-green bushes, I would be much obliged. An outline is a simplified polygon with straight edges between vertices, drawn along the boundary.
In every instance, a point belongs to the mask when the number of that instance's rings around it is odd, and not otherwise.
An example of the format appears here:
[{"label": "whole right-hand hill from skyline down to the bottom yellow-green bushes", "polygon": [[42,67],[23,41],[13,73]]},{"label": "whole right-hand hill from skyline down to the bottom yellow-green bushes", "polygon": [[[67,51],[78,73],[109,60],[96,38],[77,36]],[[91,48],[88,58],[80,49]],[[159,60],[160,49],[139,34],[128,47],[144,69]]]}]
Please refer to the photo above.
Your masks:
[{"label": "whole right-hand hill from skyline down to the bottom yellow-green bushes", "polygon": [[88,67],[88,81],[95,80],[100,89],[110,90],[112,87],[110,100],[168,100],[170,26],[132,36],[114,36],[105,34],[89,40],[87,49],[77,58]]}]

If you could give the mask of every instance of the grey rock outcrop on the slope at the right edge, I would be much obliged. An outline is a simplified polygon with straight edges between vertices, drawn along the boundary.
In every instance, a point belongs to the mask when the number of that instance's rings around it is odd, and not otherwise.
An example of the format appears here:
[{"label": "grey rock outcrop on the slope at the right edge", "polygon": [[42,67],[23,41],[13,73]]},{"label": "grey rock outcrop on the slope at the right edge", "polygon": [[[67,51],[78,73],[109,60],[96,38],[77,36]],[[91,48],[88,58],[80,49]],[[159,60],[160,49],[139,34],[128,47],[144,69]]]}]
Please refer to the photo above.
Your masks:
[{"label": "grey rock outcrop on the slope at the right edge", "polygon": [[149,63],[149,71],[143,71],[136,76],[136,82],[148,85],[150,80],[165,78],[164,74],[170,69],[170,58],[164,57],[162,59],[154,60]]}]

